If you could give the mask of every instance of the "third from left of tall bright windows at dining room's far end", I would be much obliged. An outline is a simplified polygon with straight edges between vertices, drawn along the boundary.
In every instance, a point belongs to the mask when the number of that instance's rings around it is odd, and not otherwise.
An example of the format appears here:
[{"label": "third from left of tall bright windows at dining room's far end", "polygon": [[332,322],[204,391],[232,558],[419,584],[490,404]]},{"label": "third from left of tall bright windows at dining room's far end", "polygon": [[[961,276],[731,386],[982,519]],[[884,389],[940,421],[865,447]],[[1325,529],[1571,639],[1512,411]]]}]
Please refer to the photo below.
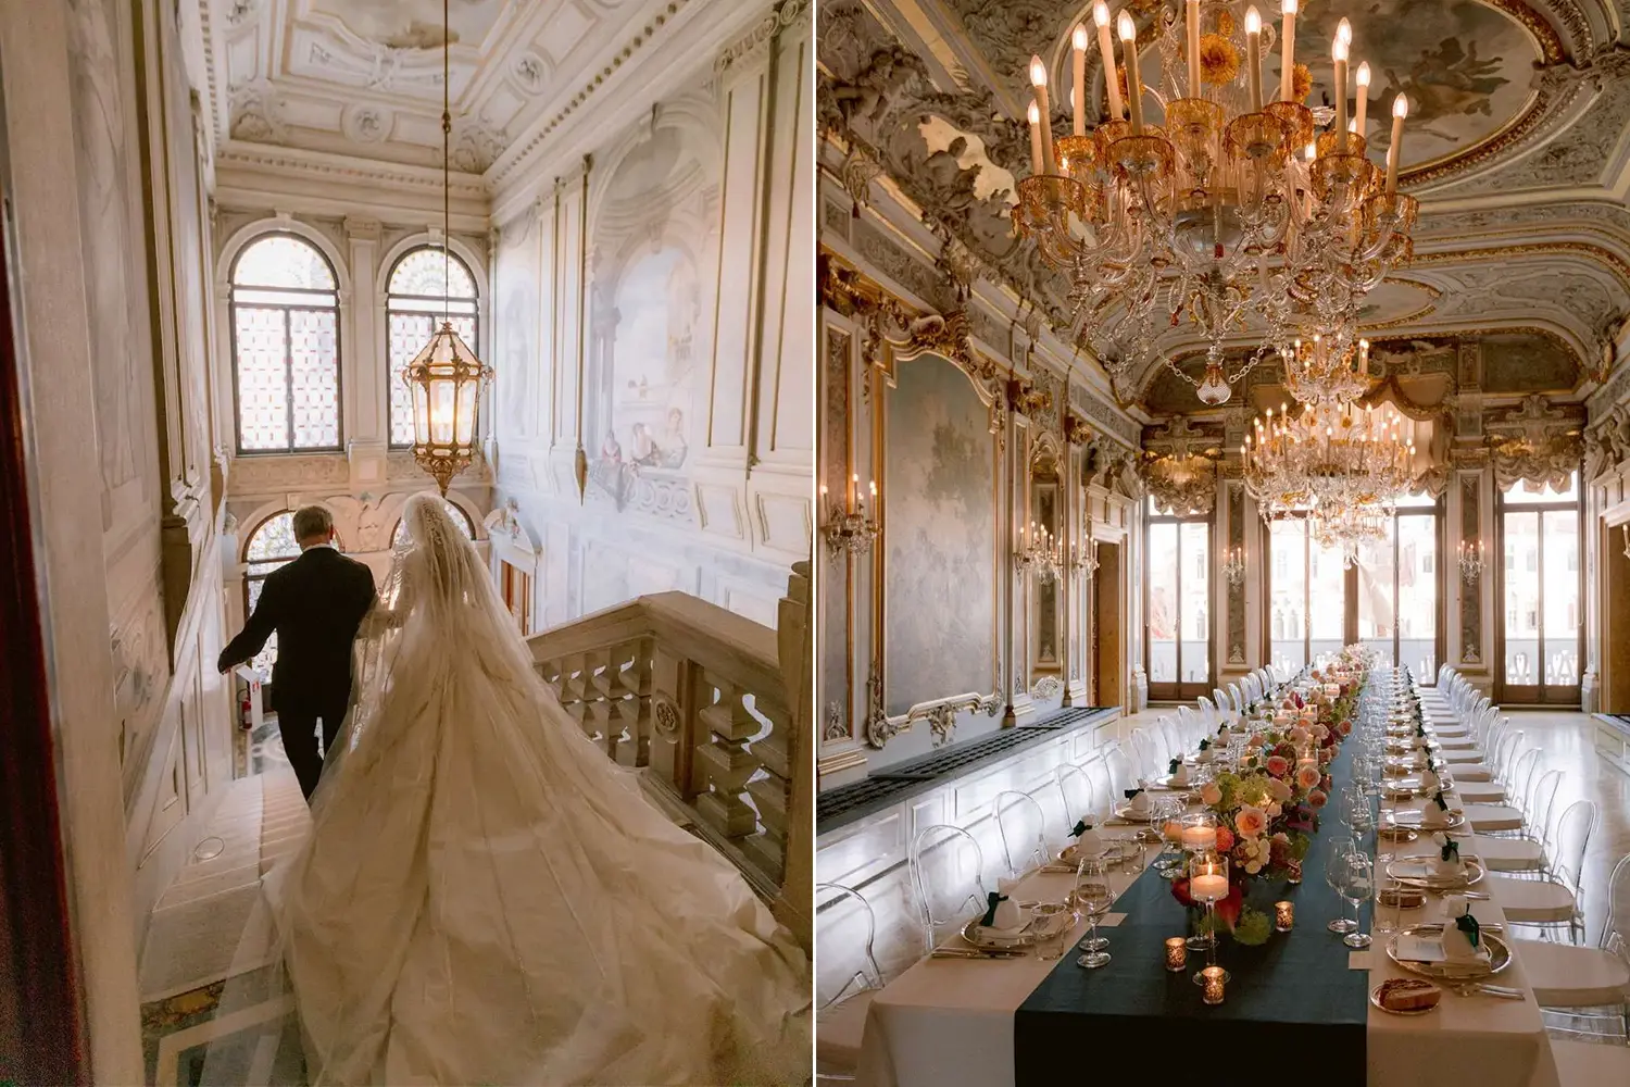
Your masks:
[{"label": "third from left of tall bright windows at dining room's far end", "polygon": [[1438,500],[1400,495],[1387,535],[1359,554],[1358,640],[1418,676],[1438,671]]}]

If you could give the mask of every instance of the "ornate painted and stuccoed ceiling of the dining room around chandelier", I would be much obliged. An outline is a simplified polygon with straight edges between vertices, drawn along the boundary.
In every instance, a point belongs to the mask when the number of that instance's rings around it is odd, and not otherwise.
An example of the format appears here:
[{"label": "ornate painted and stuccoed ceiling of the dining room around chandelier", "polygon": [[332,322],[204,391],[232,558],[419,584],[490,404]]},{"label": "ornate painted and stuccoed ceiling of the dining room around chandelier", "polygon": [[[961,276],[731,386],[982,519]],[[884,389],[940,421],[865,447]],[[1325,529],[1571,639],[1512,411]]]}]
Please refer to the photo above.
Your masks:
[{"label": "ornate painted and stuccoed ceiling of the dining room around chandelier", "polygon": [[[1148,24],[1159,0],[1123,7]],[[1421,200],[1416,257],[1371,298],[1366,334],[1467,339],[1526,329],[1571,352],[1576,378],[1565,391],[1588,391],[1602,347],[1630,313],[1630,49],[1617,7],[1314,0],[1302,13],[1299,42],[1327,42],[1341,15],[1351,20],[1353,55],[1376,72],[1371,117],[1389,116],[1400,88],[1412,104],[1400,181]],[[1081,18],[1090,20],[1084,0],[820,7],[822,124],[851,194],[864,199],[870,179],[887,173],[926,220],[968,246],[986,277],[1037,303],[1066,341],[1074,329],[1063,277],[1014,236],[1001,181],[1025,173],[1025,64],[1040,54],[1063,77],[1068,31]],[[1327,67],[1312,65],[1314,101],[1327,93]],[[1089,85],[1102,78],[1089,75]],[[1055,121],[1060,130],[1068,124],[1063,104]],[[1376,155],[1386,153],[1381,127],[1371,125]],[[947,147],[958,134],[963,145]],[[1249,342],[1247,329],[1240,345]],[[1174,329],[1162,345],[1182,357],[1195,344]],[[1123,393],[1161,401],[1162,370],[1152,363]]]}]

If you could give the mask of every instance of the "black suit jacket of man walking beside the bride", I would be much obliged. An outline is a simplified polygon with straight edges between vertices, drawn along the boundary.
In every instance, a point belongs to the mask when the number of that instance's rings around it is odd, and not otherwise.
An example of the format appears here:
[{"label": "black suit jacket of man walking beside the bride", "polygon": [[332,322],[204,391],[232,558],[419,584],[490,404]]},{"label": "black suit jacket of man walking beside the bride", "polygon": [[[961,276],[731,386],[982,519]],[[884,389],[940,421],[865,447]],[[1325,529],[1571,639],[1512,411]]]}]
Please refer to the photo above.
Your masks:
[{"label": "black suit jacket of man walking beside the bride", "polygon": [[350,644],[373,606],[373,574],[333,548],[308,548],[272,570],[220,670],[251,660],[277,632],[272,709],[319,714],[350,701]]}]

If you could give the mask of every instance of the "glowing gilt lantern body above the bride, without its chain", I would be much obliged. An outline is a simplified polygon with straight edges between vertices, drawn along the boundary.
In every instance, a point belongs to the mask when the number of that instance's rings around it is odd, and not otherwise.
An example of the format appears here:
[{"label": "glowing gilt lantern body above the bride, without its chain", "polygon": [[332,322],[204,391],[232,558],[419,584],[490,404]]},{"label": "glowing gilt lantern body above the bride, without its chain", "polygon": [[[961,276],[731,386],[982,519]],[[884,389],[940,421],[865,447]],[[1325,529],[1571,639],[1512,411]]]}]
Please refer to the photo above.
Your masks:
[{"label": "glowing gilt lantern body above the bride, without its chain", "polygon": [[435,477],[442,494],[476,456],[476,404],[489,368],[443,321],[403,370],[412,394],[412,458]]}]

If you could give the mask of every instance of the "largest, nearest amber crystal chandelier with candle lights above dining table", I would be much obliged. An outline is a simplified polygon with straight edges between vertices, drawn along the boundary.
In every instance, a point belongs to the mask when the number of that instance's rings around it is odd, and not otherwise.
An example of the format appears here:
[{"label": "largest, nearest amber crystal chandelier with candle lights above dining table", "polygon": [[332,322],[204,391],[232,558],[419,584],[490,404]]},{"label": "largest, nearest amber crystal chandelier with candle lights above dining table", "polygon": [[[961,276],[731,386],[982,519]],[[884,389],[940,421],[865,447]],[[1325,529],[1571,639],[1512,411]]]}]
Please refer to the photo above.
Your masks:
[{"label": "largest, nearest amber crystal chandelier with candle lights above dining table", "polygon": [[[1348,124],[1346,20],[1332,47],[1341,93],[1333,111],[1314,111],[1301,101],[1312,80],[1293,54],[1297,0],[1283,0],[1273,101],[1263,95],[1262,55],[1276,36],[1257,8],[1240,18],[1244,5],[1234,0],[1183,7],[1182,20],[1170,7],[1156,16],[1159,70],[1151,83],[1139,70],[1131,13],[1115,18],[1131,88],[1123,104],[1110,10],[1104,0],[1094,5],[1108,119],[1087,132],[1089,33],[1079,24],[1071,34],[1073,132],[1056,145],[1046,65],[1032,57],[1032,176],[1017,184],[1014,225],[1069,275],[1071,303],[1112,380],[1162,354],[1157,339],[1187,323],[1206,341],[1205,375],[1196,380],[1165,362],[1203,403],[1221,404],[1270,345],[1289,341],[1293,323],[1307,315],[1319,328],[1350,323],[1358,300],[1408,257],[1416,205],[1397,192],[1408,103],[1395,99],[1382,174],[1366,155],[1368,65],[1359,67],[1358,112]],[[1146,122],[1146,96],[1162,124]],[[1320,125],[1328,130],[1317,132]],[[1229,372],[1224,341],[1250,316],[1267,326],[1262,347]]]}]

